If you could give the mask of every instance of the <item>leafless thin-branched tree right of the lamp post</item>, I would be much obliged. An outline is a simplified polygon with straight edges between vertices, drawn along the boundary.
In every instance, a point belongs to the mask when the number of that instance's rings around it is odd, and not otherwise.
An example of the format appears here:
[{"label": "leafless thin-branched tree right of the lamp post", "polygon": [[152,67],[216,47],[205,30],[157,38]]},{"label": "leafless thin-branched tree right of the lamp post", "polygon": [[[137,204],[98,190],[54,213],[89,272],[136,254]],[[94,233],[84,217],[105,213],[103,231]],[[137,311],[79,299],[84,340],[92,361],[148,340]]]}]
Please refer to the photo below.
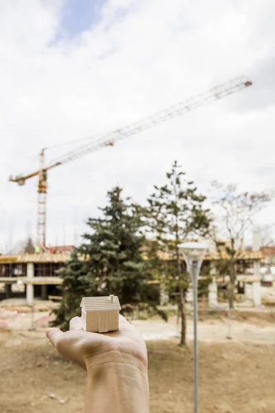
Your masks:
[{"label": "leafless thin-branched tree right of the lamp post", "polygon": [[225,261],[230,277],[228,300],[230,308],[233,308],[236,260],[243,251],[245,233],[252,227],[254,215],[270,202],[272,195],[267,192],[238,192],[236,185],[224,186],[217,181],[212,182],[212,188],[215,191],[212,200],[214,210],[212,238],[220,255],[222,254],[218,237],[226,237],[229,240],[229,245],[225,248]]}]

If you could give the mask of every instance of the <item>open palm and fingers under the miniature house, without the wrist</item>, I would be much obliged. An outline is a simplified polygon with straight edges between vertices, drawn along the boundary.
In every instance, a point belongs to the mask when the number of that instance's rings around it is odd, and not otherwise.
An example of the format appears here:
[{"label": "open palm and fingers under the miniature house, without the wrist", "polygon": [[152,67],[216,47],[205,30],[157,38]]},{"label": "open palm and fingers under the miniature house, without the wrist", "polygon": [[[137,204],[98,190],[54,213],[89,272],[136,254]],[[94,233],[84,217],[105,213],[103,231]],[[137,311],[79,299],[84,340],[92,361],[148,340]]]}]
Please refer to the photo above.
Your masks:
[{"label": "open palm and fingers under the miniature house, without the wrist", "polygon": [[77,363],[87,370],[87,361],[92,363],[96,356],[120,352],[128,354],[147,367],[146,345],[140,332],[136,330],[122,315],[120,329],[100,334],[86,332],[81,328],[80,317],[74,317],[69,323],[69,331],[62,332],[58,328],[49,328],[48,339],[56,350],[66,359]]}]

